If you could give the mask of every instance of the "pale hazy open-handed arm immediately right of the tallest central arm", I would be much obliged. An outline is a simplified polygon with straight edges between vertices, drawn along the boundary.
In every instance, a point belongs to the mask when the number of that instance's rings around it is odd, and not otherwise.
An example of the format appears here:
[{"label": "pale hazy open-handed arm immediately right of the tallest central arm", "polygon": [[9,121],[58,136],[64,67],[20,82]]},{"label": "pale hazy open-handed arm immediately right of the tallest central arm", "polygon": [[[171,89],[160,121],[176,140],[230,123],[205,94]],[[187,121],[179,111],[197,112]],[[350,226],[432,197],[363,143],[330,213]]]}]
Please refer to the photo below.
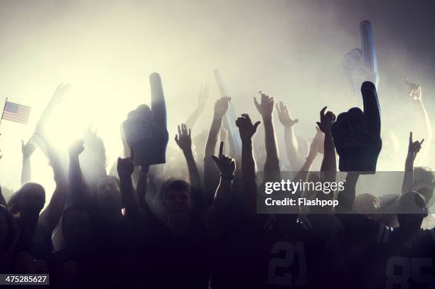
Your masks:
[{"label": "pale hazy open-handed arm immediately right of the tallest central arm", "polygon": [[286,154],[291,168],[299,168],[303,160],[299,153],[299,144],[294,134],[294,125],[299,122],[299,119],[293,119],[289,113],[289,109],[283,102],[276,104],[278,111],[278,119],[284,126],[284,145],[286,146]]}]

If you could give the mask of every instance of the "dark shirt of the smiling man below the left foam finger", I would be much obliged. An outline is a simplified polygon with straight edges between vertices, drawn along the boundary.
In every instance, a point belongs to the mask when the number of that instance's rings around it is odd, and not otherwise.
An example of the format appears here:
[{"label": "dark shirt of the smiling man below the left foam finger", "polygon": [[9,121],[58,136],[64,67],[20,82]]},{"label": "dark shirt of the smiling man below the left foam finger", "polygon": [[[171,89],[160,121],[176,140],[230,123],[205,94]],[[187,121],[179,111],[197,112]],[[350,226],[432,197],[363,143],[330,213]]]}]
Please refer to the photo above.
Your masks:
[{"label": "dark shirt of the smiling man below the left foam finger", "polygon": [[140,288],[208,288],[210,246],[205,224],[193,219],[181,235],[154,217],[139,259]]}]

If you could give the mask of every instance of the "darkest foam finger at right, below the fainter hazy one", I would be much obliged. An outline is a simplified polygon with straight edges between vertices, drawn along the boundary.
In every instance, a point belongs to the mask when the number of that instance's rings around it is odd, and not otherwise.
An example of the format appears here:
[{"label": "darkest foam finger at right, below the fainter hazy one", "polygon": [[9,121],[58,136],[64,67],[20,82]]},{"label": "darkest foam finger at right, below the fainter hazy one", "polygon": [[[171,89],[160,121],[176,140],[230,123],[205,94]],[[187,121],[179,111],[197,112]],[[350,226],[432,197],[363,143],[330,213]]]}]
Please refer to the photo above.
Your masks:
[{"label": "darkest foam finger at right, below the fainter hazy one", "polygon": [[382,148],[380,108],[375,84],[361,86],[364,112],[353,107],[338,115],[332,125],[341,171],[374,172]]}]

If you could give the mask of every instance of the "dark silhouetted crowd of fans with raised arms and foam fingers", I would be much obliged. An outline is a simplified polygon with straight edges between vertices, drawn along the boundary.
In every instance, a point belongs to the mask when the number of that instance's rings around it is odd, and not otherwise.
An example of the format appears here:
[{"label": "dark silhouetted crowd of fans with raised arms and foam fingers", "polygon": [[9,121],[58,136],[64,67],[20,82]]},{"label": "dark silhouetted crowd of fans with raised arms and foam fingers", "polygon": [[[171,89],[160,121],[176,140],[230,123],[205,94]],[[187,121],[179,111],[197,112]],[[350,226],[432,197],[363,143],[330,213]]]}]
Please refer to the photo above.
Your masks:
[{"label": "dark silhouetted crowd of fans with raised arms and foam fingers", "polygon": [[[409,88],[419,93],[417,84]],[[68,161],[47,138],[44,124],[67,90],[56,90],[23,143],[22,187],[7,202],[0,194],[0,273],[49,274],[53,288],[435,288],[435,230],[429,229],[435,175],[414,168],[429,140],[410,133],[402,192],[385,200],[356,188],[388,149],[371,82],[361,87],[363,109],[337,117],[321,109],[305,148],[294,133],[298,120],[263,92],[254,97],[260,121],[242,114],[230,123],[231,99],[221,97],[208,134],[193,138],[205,88],[175,136],[184,160],[166,150],[173,132],[166,131],[166,111],[154,98],[151,109],[142,105],[129,114],[131,126],[121,126],[124,158],[109,173],[97,133],[87,131],[72,143]],[[279,159],[274,113],[284,127],[279,141],[286,160]],[[30,182],[37,147],[53,168],[47,205],[44,187]],[[318,173],[311,172],[316,158]],[[290,170],[302,182],[333,182],[347,172],[341,192],[292,196],[339,205],[258,214],[264,183],[279,182]],[[385,213],[386,206],[395,206],[394,214]]]}]

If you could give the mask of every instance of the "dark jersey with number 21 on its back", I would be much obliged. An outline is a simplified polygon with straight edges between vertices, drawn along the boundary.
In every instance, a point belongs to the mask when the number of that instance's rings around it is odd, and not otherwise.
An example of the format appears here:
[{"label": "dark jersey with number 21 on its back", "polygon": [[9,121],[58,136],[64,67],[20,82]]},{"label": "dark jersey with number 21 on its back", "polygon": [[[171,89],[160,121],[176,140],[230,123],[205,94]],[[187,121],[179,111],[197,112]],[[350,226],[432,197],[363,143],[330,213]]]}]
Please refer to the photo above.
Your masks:
[{"label": "dark jersey with number 21 on its back", "polygon": [[228,236],[227,288],[318,288],[326,239],[307,224],[289,223],[284,232],[276,217],[264,217]]}]

